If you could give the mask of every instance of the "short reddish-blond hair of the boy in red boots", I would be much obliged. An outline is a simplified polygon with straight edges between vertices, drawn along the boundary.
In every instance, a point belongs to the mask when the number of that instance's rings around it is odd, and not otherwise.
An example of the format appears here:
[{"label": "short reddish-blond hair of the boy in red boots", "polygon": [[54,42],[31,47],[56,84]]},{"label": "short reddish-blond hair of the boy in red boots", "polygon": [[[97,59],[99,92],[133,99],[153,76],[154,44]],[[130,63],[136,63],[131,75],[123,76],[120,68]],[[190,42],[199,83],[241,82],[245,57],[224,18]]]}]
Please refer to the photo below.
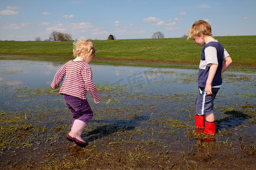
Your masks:
[{"label": "short reddish-blond hair of the boy in red boots", "polygon": [[195,22],[188,31],[188,39],[194,39],[195,36],[203,35],[212,36],[212,27],[205,20],[198,20]]}]

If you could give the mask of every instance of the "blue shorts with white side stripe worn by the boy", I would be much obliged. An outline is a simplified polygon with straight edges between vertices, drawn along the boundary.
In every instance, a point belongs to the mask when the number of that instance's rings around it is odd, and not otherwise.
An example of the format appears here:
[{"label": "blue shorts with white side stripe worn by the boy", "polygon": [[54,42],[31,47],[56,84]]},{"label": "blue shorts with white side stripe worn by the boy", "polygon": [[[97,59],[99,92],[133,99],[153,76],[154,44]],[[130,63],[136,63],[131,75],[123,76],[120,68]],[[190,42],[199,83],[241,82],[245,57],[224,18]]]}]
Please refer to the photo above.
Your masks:
[{"label": "blue shorts with white side stripe worn by the boy", "polygon": [[212,88],[212,95],[207,95],[203,87],[199,87],[199,94],[196,98],[196,113],[211,114],[213,113],[213,101],[220,88]]}]

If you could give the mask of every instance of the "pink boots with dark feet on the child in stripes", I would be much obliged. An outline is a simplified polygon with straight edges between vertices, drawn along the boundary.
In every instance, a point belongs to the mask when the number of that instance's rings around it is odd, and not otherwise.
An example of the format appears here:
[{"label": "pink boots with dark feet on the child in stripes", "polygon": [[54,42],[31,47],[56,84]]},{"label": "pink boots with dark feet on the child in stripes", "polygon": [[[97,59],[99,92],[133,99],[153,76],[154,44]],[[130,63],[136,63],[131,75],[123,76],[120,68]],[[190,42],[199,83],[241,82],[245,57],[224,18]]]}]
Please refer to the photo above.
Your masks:
[{"label": "pink boots with dark feet on the child in stripes", "polygon": [[80,147],[85,147],[88,145],[87,142],[82,140],[81,135],[84,130],[86,123],[80,120],[75,120],[73,126],[71,128],[71,132],[69,132],[67,139],[71,142],[75,142],[76,145]]}]

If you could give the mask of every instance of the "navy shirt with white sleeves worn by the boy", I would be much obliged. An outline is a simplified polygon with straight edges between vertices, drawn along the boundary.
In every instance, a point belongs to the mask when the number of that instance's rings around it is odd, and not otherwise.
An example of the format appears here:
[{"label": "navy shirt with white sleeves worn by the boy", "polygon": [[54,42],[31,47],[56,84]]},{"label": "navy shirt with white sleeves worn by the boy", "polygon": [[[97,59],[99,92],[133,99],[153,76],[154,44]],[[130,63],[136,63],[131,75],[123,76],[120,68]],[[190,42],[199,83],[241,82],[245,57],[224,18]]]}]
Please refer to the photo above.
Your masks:
[{"label": "navy shirt with white sleeves worn by the boy", "polygon": [[221,87],[222,63],[226,57],[229,57],[229,54],[224,49],[224,46],[221,45],[220,42],[218,42],[218,40],[213,40],[205,44],[202,50],[201,61],[199,65],[199,87],[205,87],[210,70],[210,65],[212,63],[218,65],[218,69],[212,81],[212,87]]}]

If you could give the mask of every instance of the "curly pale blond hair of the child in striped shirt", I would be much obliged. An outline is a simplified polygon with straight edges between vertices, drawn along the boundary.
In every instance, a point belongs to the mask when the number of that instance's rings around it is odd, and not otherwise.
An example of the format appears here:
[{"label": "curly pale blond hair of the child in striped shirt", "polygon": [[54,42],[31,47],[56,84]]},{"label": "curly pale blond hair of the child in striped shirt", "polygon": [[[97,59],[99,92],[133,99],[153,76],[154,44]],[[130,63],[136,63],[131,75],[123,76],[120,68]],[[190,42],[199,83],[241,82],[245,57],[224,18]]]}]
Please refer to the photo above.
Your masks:
[{"label": "curly pale blond hair of the child in striped shirt", "polygon": [[88,57],[96,54],[94,44],[85,37],[81,37],[78,41],[73,42],[73,56],[77,57],[81,54],[86,54]]}]

